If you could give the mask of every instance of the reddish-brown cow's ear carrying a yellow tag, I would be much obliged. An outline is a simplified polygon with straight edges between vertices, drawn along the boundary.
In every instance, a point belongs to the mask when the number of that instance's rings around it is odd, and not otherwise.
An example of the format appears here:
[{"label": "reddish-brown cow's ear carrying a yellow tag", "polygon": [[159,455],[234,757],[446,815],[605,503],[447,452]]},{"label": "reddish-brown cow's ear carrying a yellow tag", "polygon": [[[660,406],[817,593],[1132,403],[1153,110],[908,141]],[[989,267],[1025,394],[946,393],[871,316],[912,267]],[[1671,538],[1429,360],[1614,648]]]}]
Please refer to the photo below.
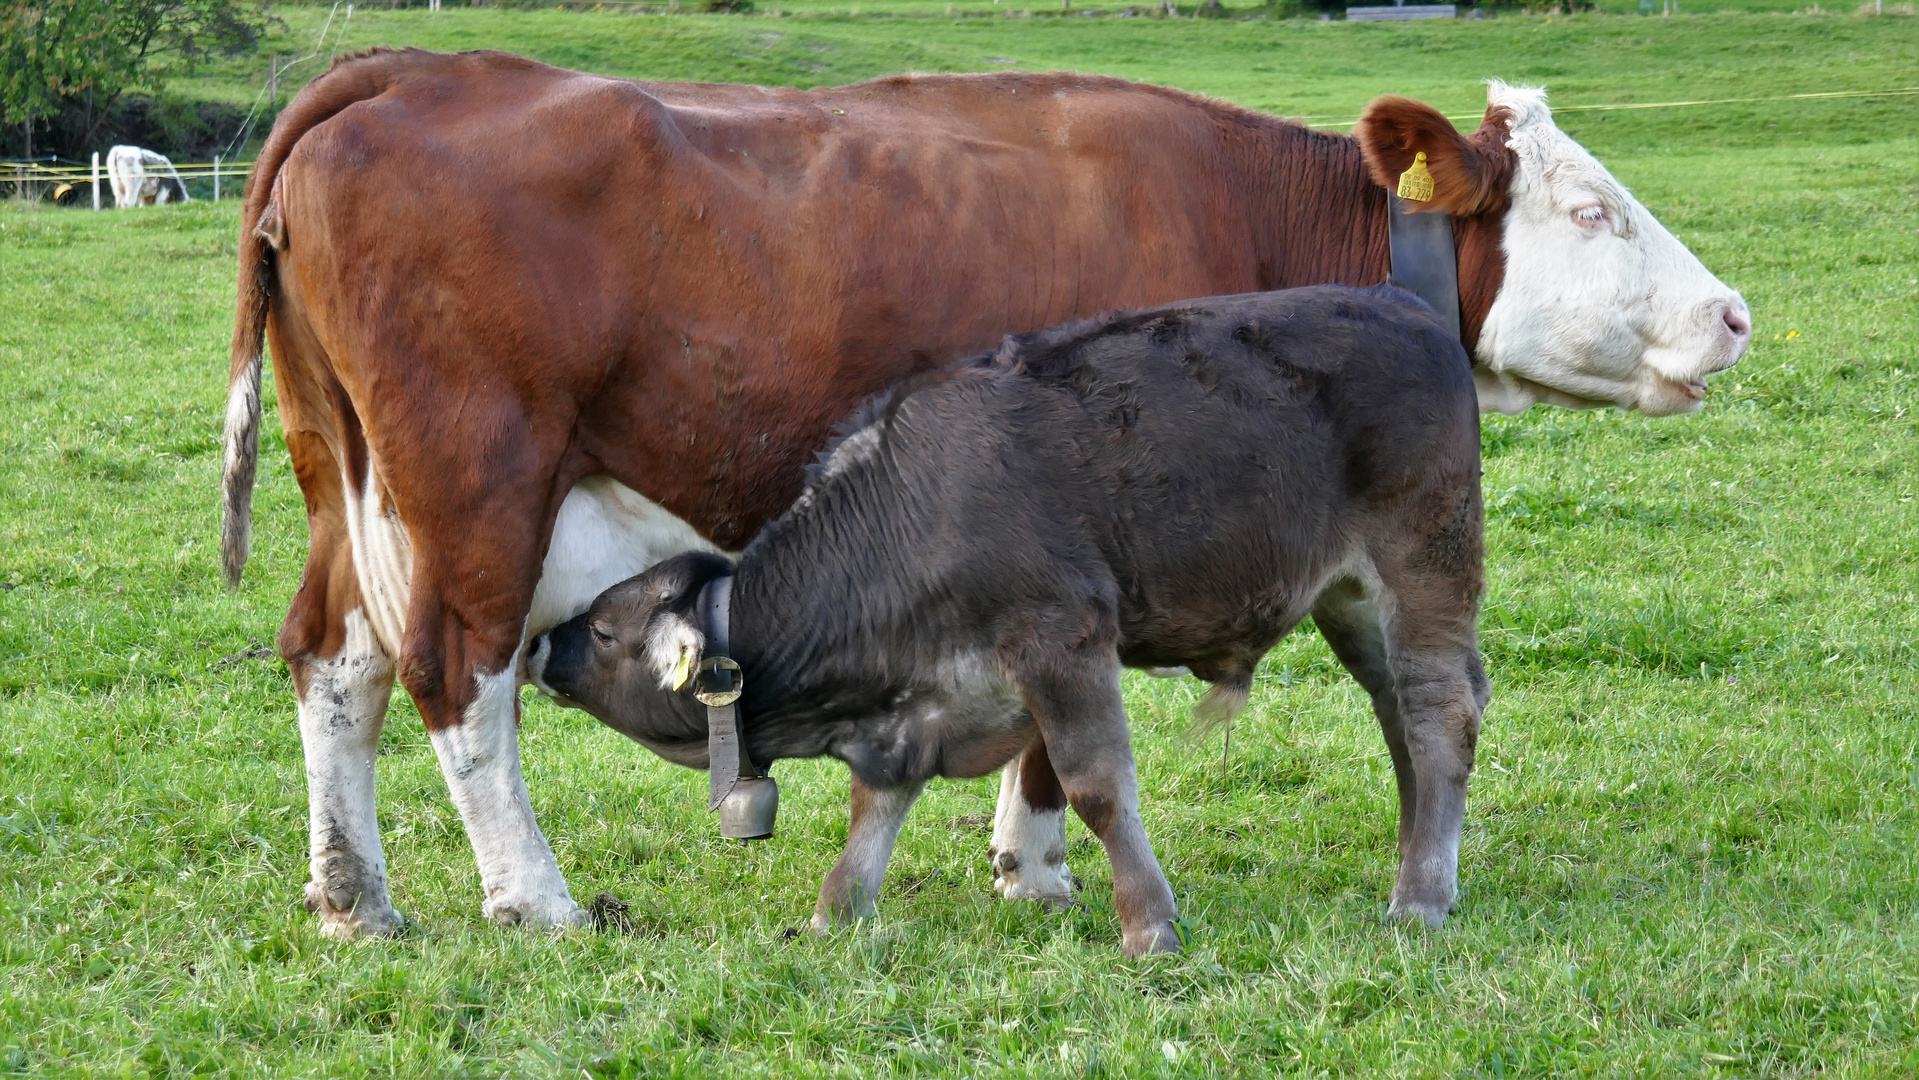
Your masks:
[{"label": "reddish-brown cow's ear carrying a yellow tag", "polygon": [[1399,190],[1399,178],[1424,153],[1433,198],[1412,205],[1470,217],[1506,209],[1514,167],[1512,152],[1506,150],[1508,121],[1508,111],[1493,106],[1485,109],[1480,130],[1464,136],[1439,109],[1412,98],[1386,96],[1366,106],[1353,136],[1366,155],[1374,184]]}]

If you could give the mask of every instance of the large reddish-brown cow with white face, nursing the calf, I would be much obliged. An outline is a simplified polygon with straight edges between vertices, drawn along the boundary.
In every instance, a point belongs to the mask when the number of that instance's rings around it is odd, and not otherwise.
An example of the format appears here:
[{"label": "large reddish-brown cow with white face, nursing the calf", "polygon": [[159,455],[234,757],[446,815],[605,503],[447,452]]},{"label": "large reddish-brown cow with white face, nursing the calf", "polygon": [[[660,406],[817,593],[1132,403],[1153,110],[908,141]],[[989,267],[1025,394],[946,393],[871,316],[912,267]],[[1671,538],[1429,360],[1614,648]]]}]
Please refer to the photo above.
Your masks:
[{"label": "large reddish-brown cow with white face, nursing the calf", "polygon": [[[399,925],[374,815],[395,675],[482,911],[578,923],[520,777],[530,635],[660,558],[745,547],[902,374],[1105,309],[1384,280],[1384,184],[1416,152],[1483,409],[1685,412],[1742,353],[1739,293],[1539,90],[1493,82],[1470,136],[1382,98],[1343,138],[1071,73],[787,90],[409,50],[313,81],[248,186],[223,547],[238,579],[265,336],[311,537],[278,648],[322,928]],[[1000,817],[1002,890],[1061,896],[1042,748]]]}]

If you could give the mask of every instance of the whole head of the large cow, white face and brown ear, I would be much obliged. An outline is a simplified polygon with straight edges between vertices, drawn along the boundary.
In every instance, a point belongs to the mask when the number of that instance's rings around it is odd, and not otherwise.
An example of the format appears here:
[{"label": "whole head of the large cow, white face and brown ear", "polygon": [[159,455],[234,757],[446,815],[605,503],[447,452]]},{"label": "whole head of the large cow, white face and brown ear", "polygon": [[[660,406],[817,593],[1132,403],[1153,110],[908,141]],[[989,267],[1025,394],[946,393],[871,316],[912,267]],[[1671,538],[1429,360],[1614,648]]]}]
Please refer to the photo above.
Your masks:
[{"label": "whole head of the large cow, white face and brown ear", "polygon": [[[1428,155],[1426,207],[1455,215],[1460,297],[1468,320],[1476,303],[1485,313],[1474,343],[1481,411],[1545,401],[1691,412],[1706,376],[1746,351],[1744,297],[1552,123],[1545,90],[1491,82],[1470,136],[1430,106],[1380,98],[1355,134],[1384,186]],[[1487,236],[1480,249],[1474,230]]]}]

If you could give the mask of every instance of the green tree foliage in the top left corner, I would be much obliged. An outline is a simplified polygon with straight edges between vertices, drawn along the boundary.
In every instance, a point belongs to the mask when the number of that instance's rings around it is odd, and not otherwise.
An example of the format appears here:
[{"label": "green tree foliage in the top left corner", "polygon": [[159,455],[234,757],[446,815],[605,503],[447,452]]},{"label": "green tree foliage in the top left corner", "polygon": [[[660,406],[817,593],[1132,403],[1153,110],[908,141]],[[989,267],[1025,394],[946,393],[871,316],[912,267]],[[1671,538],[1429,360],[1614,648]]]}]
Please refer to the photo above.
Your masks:
[{"label": "green tree foliage in the top left corner", "polygon": [[104,109],[207,56],[259,46],[251,0],[0,0],[0,119],[33,123],[86,98]]}]

